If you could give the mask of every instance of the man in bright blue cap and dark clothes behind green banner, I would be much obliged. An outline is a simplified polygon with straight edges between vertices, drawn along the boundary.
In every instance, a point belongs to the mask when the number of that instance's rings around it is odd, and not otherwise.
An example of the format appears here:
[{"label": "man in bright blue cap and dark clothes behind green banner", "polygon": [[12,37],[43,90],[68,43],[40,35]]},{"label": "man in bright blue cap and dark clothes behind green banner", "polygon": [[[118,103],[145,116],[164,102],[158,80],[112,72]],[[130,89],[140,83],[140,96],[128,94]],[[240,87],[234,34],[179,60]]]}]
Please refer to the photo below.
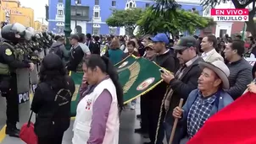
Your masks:
[{"label": "man in bright blue cap and dark clothes behind green banner", "polygon": [[[170,72],[176,72],[179,67],[179,61],[176,57],[170,53],[170,50],[166,48],[169,45],[169,39],[164,33],[155,35],[150,38],[153,41],[153,49],[158,55],[153,59],[160,67],[164,67]],[[145,97],[148,97],[149,104],[148,111],[150,115],[148,118],[148,134],[150,142],[146,144],[162,144],[164,140],[164,125],[163,119],[160,120],[159,114],[161,109],[162,100],[164,99],[164,93],[166,92],[167,84],[159,83],[159,85],[151,90]],[[159,129],[158,129],[159,124]],[[158,135],[157,135],[158,134]],[[156,136],[157,135],[157,136]]]}]

